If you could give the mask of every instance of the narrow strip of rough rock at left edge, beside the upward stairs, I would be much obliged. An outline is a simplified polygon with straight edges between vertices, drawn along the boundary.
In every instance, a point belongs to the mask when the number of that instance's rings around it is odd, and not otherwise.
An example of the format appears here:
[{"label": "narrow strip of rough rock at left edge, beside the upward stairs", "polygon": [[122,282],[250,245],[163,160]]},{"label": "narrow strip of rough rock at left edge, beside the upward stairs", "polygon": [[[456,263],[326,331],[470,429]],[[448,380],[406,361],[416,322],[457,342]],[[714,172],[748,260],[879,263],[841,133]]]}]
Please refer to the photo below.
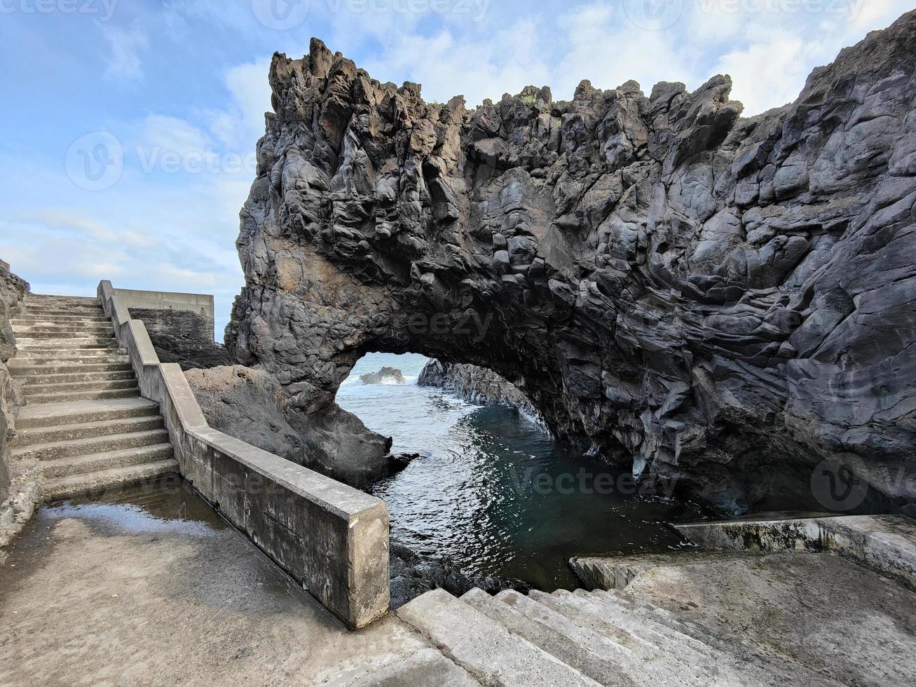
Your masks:
[{"label": "narrow strip of rough rock at left edge, beside the upward stairs", "polygon": [[9,271],[9,265],[0,262],[0,527],[10,524],[12,509],[9,497],[9,467],[6,434],[16,424],[16,415],[22,405],[18,385],[13,381],[6,362],[16,355],[16,337],[10,324],[11,312],[28,293],[28,284]]}]

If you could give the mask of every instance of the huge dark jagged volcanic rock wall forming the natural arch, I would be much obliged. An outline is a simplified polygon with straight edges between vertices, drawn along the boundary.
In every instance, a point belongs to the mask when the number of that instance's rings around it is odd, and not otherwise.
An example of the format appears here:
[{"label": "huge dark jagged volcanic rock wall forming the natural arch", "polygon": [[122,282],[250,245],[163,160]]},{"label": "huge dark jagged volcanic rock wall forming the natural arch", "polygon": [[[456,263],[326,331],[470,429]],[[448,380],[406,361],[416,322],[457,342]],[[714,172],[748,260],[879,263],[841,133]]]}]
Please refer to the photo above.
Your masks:
[{"label": "huge dark jagged volcanic rock wall forming the natural arch", "polygon": [[227,345],[278,377],[300,433],[340,419],[361,355],[411,351],[494,370],[558,437],[728,512],[810,502],[836,453],[900,506],[914,52],[911,12],[750,118],[727,76],[467,110],[317,40],[275,55]]}]

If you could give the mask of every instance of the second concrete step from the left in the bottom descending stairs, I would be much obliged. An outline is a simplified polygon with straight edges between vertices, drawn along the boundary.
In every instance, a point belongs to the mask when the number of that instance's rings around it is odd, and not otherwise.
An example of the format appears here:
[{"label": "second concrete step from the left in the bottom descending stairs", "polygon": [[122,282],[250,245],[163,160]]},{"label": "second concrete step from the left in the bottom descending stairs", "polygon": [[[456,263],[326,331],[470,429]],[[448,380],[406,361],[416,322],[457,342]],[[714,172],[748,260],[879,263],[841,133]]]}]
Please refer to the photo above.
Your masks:
[{"label": "second concrete step from the left in the bottom descending stairs", "polygon": [[[563,663],[572,666],[583,675],[592,678],[595,682],[605,685],[627,685],[627,687],[638,684],[632,679],[630,674],[632,671],[627,672],[621,666],[621,658],[612,660],[610,656],[604,656],[585,649],[579,642],[573,641],[573,639],[556,632],[550,626],[518,612],[512,601],[506,597],[497,600],[482,589],[472,589],[467,594],[463,594],[461,600],[506,627],[509,632],[528,639],[534,646],[562,660]],[[536,605],[535,602],[528,600],[527,597],[526,600],[529,601],[529,604]],[[626,652],[626,649],[623,648],[618,650]],[[623,660],[637,665],[639,678],[645,678],[646,670],[641,666],[642,661],[637,656],[632,655],[632,652],[628,653],[631,655]]]}]

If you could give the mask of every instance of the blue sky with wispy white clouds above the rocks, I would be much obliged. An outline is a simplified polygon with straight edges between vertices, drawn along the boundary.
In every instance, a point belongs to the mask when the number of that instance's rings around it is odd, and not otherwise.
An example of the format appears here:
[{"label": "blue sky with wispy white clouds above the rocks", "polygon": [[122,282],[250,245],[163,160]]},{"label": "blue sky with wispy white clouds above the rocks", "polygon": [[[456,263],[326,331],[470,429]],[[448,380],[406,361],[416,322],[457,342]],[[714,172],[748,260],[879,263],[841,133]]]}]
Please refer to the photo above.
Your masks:
[{"label": "blue sky with wispy white clouds above the rocks", "polygon": [[274,51],[312,36],[427,101],[730,74],[745,114],[913,0],[0,0],[0,259],[36,293],[212,293],[222,340],[244,286]]}]

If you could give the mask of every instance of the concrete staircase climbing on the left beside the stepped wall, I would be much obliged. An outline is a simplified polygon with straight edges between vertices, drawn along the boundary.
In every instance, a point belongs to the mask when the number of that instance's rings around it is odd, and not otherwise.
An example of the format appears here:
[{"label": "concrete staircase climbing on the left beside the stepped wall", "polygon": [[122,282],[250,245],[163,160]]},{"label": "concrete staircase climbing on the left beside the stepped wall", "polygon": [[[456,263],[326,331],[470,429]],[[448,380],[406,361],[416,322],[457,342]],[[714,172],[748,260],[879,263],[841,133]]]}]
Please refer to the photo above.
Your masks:
[{"label": "concrete staircase climbing on the left beside the stepped wall", "polygon": [[29,295],[11,323],[26,401],[11,455],[39,461],[46,500],[177,471],[158,405],[140,396],[97,299]]}]

